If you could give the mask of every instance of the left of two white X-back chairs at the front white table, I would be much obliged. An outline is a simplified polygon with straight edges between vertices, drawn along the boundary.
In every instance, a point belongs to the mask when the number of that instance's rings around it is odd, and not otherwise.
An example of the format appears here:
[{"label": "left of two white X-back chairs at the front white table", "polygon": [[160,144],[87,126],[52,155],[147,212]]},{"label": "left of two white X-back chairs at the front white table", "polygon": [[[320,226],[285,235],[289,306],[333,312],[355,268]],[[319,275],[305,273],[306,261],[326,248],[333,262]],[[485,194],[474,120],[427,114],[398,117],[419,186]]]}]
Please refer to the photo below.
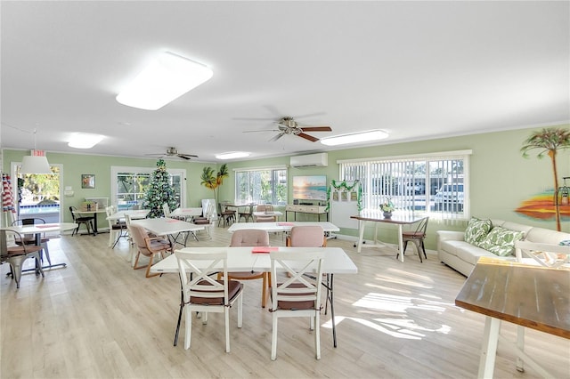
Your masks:
[{"label": "left of two white X-back chairs at the front white table", "polygon": [[210,277],[220,270],[220,262],[224,265],[224,278],[228,277],[227,252],[204,254],[178,250],[175,254],[186,312],[184,349],[190,349],[191,345],[192,312],[200,312],[202,324],[208,323],[209,312],[216,312],[224,313],[225,351],[230,352],[230,309],[238,302],[238,327],[241,327],[243,284],[236,280],[214,280]]}]

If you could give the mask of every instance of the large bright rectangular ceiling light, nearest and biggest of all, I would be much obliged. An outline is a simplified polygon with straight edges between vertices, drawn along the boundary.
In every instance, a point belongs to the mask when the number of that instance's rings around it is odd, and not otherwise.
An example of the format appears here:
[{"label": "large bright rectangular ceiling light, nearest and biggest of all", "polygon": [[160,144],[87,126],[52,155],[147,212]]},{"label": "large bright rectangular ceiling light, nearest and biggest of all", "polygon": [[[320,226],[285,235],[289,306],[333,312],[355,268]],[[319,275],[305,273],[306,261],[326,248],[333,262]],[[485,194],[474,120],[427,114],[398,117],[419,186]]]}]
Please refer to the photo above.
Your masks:
[{"label": "large bright rectangular ceiling light, nearest and biggest of all", "polygon": [[162,52],[117,96],[123,105],[157,110],[206,82],[208,67],[172,52]]}]

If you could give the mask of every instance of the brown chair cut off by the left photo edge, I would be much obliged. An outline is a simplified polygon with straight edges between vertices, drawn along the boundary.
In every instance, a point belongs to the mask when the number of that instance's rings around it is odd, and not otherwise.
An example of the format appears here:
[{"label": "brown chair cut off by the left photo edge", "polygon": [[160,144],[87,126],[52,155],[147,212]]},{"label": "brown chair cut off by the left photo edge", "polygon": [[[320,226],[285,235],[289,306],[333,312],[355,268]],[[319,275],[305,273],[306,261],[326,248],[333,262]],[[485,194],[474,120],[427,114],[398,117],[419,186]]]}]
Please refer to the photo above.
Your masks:
[{"label": "brown chair cut off by the left photo edge", "polygon": [[36,258],[36,276],[42,274],[42,278],[44,278],[40,255],[43,247],[17,244],[17,241],[23,241],[25,238],[25,236],[15,230],[0,230],[0,262],[8,262],[10,264],[12,278],[16,281],[16,288],[20,288],[22,265],[28,258]]}]

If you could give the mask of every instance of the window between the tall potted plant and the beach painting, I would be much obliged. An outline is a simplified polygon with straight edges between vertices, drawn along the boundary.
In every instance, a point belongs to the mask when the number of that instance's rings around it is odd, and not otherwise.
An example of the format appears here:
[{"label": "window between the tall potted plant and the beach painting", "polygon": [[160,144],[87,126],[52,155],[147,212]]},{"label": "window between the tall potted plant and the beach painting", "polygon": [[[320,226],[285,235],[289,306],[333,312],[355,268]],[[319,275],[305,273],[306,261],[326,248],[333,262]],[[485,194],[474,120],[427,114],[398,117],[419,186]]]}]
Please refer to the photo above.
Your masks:
[{"label": "window between the tall potted plant and the beach painting", "polygon": [[238,204],[287,205],[287,169],[285,167],[236,169],[235,200]]}]

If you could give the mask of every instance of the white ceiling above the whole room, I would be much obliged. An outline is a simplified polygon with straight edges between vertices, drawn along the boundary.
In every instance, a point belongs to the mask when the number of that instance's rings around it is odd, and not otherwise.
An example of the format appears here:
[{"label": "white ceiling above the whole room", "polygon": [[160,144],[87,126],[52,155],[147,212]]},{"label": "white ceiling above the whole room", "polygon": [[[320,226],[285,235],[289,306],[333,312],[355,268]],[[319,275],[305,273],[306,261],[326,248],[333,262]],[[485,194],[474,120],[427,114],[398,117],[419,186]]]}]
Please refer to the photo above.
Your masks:
[{"label": "white ceiling above the whole room", "polygon": [[[283,116],[382,143],[566,123],[569,4],[2,1],[1,146],[32,149],[36,128],[46,151],[212,162],[330,149],[269,142]],[[158,111],[115,101],[161,51],[214,77]],[[69,148],[77,132],[105,139]]]}]

